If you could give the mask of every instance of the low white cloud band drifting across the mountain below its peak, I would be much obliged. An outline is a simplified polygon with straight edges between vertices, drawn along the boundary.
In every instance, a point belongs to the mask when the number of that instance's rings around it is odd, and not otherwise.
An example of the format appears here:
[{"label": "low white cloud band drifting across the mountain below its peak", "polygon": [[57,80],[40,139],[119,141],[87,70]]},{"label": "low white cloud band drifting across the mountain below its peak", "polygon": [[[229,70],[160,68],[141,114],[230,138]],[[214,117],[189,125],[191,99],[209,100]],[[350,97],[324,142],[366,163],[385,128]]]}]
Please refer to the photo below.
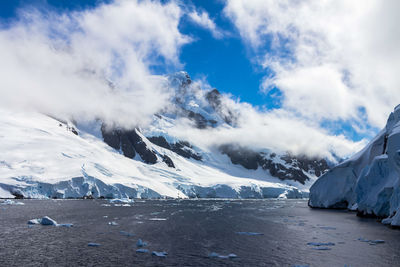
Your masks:
[{"label": "low white cloud band drifting across the mountain below its peak", "polygon": [[326,157],[332,161],[336,156],[347,157],[366,145],[365,140],[353,142],[343,135],[332,135],[318,124],[282,109],[259,110],[227,95],[222,101],[223,106],[237,116],[236,127],[197,129],[190,121],[182,120],[170,128],[169,133],[203,149],[234,143],[256,150]]}]

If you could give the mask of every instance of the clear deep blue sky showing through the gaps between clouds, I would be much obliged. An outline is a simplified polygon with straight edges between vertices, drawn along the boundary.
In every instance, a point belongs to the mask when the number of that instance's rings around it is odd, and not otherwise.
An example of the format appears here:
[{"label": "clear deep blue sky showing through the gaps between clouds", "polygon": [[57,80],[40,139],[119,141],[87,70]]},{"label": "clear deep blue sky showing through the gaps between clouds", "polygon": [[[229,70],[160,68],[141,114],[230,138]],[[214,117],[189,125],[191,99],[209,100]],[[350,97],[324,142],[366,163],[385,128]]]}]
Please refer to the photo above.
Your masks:
[{"label": "clear deep blue sky showing through the gaps between clouds", "polygon": [[[56,9],[59,12],[92,8],[99,0],[13,0],[2,1],[0,15],[3,21],[12,20],[20,7],[35,6]],[[259,91],[260,82],[265,75],[257,65],[252,64],[252,53],[240,39],[234,25],[221,12],[221,1],[193,1],[196,7],[207,11],[219,27],[229,31],[229,37],[217,40],[209,31],[202,29],[183,18],[180,25],[182,33],[192,36],[195,41],[185,45],[180,54],[183,69],[194,79],[207,79],[211,86],[221,92],[231,93],[242,101],[254,105],[276,106],[276,102]],[[179,69],[176,69],[179,70]],[[155,70],[163,73],[166,70]]]}]

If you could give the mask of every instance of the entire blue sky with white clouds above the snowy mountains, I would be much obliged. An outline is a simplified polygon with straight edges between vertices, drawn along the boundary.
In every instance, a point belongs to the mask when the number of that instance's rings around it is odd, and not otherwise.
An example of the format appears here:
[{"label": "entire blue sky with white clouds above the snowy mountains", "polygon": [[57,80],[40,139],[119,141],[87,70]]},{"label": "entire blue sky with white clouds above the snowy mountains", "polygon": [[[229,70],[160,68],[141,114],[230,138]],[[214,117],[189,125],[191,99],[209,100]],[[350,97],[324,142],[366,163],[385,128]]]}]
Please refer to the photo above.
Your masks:
[{"label": "entire blue sky with white clouds above the snowy mountains", "polygon": [[[251,116],[238,135],[282,146],[315,146],[314,138],[324,144],[317,150],[346,156],[400,103],[399,8],[395,0],[2,1],[0,104],[143,125],[168,105],[162,75],[185,70]],[[104,79],[118,90],[110,94]]]}]

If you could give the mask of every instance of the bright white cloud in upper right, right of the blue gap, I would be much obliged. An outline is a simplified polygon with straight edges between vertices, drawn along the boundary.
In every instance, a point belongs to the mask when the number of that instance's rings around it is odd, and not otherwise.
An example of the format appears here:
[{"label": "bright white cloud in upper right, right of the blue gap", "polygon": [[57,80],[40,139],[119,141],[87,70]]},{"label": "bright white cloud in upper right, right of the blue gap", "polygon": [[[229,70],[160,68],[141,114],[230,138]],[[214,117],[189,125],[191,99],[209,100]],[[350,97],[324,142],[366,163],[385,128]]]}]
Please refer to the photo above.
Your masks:
[{"label": "bright white cloud in upper right, right of the blue gap", "polygon": [[382,127],[400,103],[399,8],[395,0],[227,0],[224,12],[275,73],[263,86],[283,92],[283,109]]}]

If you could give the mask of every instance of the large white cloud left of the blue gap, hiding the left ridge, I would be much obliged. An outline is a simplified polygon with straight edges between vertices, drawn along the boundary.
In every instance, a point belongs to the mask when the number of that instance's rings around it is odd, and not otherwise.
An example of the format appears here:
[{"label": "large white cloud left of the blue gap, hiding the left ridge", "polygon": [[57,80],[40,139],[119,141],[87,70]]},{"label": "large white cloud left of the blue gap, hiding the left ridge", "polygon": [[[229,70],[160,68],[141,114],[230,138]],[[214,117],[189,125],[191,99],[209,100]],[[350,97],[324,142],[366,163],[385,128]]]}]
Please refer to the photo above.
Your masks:
[{"label": "large white cloud left of the blue gap, hiding the left ridge", "polygon": [[151,67],[179,65],[190,41],[181,16],[174,2],[135,0],[69,14],[22,10],[0,29],[0,105],[143,125],[169,101]]}]

